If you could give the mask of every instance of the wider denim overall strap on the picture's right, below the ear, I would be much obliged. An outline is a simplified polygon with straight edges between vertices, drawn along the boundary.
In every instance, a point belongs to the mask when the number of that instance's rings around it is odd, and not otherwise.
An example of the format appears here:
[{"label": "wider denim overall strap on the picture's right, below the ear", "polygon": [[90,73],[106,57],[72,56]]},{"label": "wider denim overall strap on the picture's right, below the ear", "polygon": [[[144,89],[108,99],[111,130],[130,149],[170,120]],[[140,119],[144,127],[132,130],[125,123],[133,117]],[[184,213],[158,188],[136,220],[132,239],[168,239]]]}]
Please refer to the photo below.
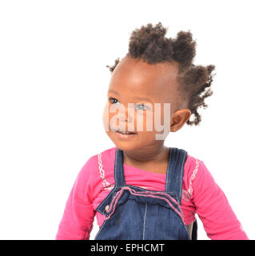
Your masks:
[{"label": "wider denim overall strap on the picture's right, below the ear", "polygon": [[176,147],[170,147],[169,150],[169,163],[165,178],[165,192],[175,192],[179,202],[181,202],[183,170],[187,158],[187,151]]}]

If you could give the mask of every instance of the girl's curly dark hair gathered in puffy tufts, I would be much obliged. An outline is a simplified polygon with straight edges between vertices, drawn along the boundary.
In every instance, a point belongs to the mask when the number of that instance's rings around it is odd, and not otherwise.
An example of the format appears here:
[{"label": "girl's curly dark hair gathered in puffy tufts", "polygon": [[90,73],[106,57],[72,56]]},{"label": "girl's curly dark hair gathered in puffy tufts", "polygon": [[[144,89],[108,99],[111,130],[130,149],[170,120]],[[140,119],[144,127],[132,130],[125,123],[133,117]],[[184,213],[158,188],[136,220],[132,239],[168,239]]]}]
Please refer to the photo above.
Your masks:
[{"label": "girl's curly dark hair gathered in puffy tufts", "polygon": [[[141,59],[148,64],[159,62],[178,62],[179,91],[183,98],[188,98],[188,108],[191,111],[193,121],[187,121],[189,126],[197,126],[201,122],[201,115],[197,113],[198,107],[205,109],[205,98],[211,96],[213,91],[210,86],[213,82],[212,71],[214,65],[195,66],[192,61],[196,55],[196,42],[193,41],[190,31],[179,31],[176,38],[165,38],[167,28],[161,22],[155,26],[151,23],[141,26],[138,30],[133,30],[129,38],[129,58]],[[120,62],[115,60],[114,66],[106,66],[111,72]]]}]

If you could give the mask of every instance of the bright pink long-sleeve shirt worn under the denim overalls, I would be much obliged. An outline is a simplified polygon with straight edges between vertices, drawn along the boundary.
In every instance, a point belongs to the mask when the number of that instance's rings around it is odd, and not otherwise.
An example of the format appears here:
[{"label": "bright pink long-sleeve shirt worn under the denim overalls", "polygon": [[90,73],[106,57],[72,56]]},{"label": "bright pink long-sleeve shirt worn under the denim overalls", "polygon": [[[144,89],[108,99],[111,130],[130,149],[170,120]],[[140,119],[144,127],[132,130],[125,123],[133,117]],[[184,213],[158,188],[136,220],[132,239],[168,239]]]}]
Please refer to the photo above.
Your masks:
[{"label": "bright pink long-sleeve shirt worn under the denim overalls", "polygon": [[[58,226],[57,240],[88,240],[94,216],[99,226],[105,220],[96,208],[114,187],[114,161],[116,147],[88,159],[70,191],[62,220]],[[165,190],[166,174],[152,173],[124,163],[127,185],[148,190]],[[185,225],[195,221],[195,214],[203,222],[205,232],[213,240],[249,239],[233,213],[225,194],[204,162],[189,154],[184,166],[181,210]]]}]

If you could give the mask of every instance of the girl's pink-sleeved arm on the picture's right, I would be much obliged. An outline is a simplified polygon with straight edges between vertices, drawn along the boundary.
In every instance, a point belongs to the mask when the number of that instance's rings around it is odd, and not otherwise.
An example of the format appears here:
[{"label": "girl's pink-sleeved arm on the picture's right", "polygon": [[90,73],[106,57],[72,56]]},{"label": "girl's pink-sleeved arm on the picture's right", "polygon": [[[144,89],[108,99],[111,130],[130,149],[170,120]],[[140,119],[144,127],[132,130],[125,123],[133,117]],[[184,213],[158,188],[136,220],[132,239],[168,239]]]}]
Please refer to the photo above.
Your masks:
[{"label": "girl's pink-sleeved arm on the picture's right", "polygon": [[199,161],[196,178],[193,180],[193,203],[203,222],[205,232],[213,240],[248,240],[241,223],[233,213],[224,192]]}]

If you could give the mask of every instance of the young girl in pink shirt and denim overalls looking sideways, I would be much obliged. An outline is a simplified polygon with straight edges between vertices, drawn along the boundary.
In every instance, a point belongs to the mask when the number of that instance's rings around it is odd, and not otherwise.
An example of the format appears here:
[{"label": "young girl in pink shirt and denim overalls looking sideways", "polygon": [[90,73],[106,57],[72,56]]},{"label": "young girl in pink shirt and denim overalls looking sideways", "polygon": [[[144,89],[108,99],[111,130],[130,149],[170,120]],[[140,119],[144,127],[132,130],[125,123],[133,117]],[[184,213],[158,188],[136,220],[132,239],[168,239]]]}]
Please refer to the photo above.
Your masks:
[{"label": "young girl in pink shirt and denim overalls looking sideways", "polygon": [[[165,33],[161,22],[134,30],[128,54],[109,66],[103,122],[116,147],[92,156],[80,170],[56,239],[89,239],[94,215],[100,226],[95,239],[196,239],[195,214],[211,239],[248,239],[204,162],[164,145],[169,132],[201,122],[197,109],[213,94],[215,69],[193,65],[190,32],[174,39]],[[153,119],[158,103],[160,120],[169,118],[161,138]]]}]

